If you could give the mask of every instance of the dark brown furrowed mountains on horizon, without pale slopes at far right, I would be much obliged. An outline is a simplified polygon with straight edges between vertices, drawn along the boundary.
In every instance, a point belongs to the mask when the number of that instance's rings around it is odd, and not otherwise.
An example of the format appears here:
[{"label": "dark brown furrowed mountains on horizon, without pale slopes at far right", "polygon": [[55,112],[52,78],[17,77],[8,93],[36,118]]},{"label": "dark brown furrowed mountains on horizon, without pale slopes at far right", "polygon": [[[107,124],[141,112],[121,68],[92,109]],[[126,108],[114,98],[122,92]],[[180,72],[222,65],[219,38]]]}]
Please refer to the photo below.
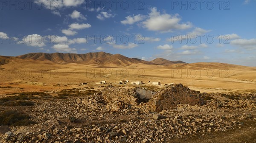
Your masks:
[{"label": "dark brown furrowed mountains on horizon, without pale slopes at far right", "polygon": [[0,65],[7,64],[18,59],[33,59],[39,61],[51,61],[58,64],[78,63],[88,65],[118,65],[118,66],[129,66],[132,64],[155,64],[155,65],[171,65],[177,63],[186,64],[182,61],[169,61],[163,58],[157,58],[150,62],[137,59],[128,58],[120,54],[111,54],[105,52],[96,53],[28,53],[16,57],[12,56],[0,56]]}]

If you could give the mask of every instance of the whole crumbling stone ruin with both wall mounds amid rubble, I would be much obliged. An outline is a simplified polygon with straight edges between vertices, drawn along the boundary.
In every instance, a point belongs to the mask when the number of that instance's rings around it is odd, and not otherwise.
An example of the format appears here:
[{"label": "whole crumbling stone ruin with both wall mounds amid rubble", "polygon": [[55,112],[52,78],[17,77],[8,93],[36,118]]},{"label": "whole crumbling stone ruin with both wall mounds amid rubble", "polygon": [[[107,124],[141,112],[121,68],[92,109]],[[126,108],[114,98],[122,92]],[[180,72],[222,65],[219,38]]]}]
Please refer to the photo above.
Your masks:
[{"label": "whole crumbling stone ruin with both wall mounds amid rubble", "polygon": [[88,96],[83,103],[105,104],[111,112],[131,106],[141,107],[150,112],[161,112],[163,109],[177,109],[178,104],[201,105],[204,100],[199,91],[190,90],[182,84],[174,84],[157,92],[144,87],[105,87],[98,93]]}]

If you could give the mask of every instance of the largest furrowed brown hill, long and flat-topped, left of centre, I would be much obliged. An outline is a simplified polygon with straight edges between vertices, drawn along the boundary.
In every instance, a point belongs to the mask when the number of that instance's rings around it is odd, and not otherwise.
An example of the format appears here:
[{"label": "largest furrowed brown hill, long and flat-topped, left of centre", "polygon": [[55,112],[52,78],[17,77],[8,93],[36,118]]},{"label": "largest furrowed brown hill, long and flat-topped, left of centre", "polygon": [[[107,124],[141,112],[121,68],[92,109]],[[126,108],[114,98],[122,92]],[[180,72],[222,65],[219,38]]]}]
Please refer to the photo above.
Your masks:
[{"label": "largest furrowed brown hill, long and flat-topped, left of centre", "polygon": [[101,65],[101,66],[115,66],[125,67],[132,64],[154,64],[136,58],[128,58],[126,56],[105,52],[96,53],[28,53],[25,55],[17,56],[20,59],[34,59],[40,61],[52,61],[58,64],[78,63],[88,65]]}]

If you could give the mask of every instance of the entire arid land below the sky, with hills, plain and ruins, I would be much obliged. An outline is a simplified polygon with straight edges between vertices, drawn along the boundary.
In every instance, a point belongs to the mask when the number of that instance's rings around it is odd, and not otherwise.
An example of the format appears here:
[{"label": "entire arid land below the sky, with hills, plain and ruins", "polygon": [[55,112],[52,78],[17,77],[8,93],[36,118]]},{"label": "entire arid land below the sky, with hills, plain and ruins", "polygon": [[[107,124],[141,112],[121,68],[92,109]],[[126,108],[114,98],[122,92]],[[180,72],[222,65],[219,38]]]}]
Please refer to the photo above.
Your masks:
[{"label": "entire arid land below the sky, with hills, plain and ruins", "polygon": [[256,141],[256,67],[104,52],[0,64],[3,143]]}]

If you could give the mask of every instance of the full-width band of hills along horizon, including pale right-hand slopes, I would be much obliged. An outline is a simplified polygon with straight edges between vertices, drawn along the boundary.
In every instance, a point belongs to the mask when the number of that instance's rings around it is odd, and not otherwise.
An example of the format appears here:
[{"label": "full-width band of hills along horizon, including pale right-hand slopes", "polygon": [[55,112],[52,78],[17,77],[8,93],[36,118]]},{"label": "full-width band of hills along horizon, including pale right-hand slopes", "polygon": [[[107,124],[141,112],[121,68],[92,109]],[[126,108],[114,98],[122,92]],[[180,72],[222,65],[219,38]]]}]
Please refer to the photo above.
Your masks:
[{"label": "full-width band of hills along horizon, including pale right-hand slopes", "polygon": [[182,61],[169,61],[157,58],[152,61],[145,61],[137,58],[128,58],[120,54],[105,52],[95,53],[28,53],[20,56],[0,56],[0,65],[4,64],[84,64],[96,67],[126,67],[145,69],[247,69],[255,70],[255,67],[246,67],[235,64],[217,62],[186,63]]}]

